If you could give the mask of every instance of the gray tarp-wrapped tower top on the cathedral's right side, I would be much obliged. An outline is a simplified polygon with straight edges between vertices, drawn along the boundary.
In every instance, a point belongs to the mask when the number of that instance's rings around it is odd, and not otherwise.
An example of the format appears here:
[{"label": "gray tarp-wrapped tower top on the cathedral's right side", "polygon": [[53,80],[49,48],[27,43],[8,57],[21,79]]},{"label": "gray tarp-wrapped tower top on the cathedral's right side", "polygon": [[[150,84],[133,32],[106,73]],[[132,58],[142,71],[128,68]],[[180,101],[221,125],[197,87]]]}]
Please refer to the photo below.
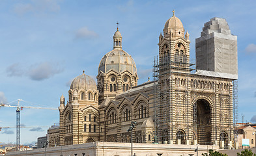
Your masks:
[{"label": "gray tarp-wrapped tower top on the cathedral's right side", "polygon": [[231,34],[225,19],[205,23],[201,37],[195,40],[195,57],[197,70],[238,74],[237,36]]}]

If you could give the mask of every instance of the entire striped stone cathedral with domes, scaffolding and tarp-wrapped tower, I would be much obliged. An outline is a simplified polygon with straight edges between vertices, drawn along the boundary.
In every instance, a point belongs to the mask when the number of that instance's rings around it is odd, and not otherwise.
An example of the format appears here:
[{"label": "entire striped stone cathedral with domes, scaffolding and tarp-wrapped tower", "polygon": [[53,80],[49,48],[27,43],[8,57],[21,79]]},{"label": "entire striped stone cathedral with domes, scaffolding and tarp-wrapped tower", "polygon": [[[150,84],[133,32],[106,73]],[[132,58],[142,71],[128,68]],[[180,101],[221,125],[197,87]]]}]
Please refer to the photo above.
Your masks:
[{"label": "entire striped stone cathedral with domes, scaffolding and tarp-wrapped tower", "polygon": [[[227,21],[205,23],[196,39],[195,64],[190,34],[174,11],[158,46],[154,79],[138,85],[134,59],[122,49],[117,28],[113,50],[100,60],[97,83],[83,72],[72,81],[67,103],[61,96],[59,127],[48,130],[49,146],[95,141],[234,146],[237,37]],[[137,124],[131,137],[132,121]]]}]

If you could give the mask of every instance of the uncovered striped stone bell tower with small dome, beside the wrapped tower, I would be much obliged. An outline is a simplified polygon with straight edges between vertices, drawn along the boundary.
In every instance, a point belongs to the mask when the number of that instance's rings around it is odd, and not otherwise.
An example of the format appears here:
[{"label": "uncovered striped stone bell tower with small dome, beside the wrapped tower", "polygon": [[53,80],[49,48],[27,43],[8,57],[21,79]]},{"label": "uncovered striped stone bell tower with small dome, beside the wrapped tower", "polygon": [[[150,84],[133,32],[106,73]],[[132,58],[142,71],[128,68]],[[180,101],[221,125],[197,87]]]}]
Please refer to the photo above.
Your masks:
[{"label": "uncovered striped stone bell tower with small dome, beside the wrapped tower", "polygon": [[159,36],[159,68],[160,75],[169,72],[190,73],[190,40],[188,32],[184,34],[184,27],[180,19],[175,16],[169,18],[164,26],[164,36]]}]

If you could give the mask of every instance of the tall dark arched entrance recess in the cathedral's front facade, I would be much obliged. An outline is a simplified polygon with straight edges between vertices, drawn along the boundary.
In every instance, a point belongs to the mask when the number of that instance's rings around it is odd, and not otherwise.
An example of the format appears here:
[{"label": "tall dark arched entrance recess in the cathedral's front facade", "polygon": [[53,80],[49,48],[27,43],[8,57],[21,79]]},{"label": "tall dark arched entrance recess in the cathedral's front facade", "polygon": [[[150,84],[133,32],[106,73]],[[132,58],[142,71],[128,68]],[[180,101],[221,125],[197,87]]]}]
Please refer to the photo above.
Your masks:
[{"label": "tall dark arched entrance recess in the cathedral's front facade", "polygon": [[210,103],[205,99],[198,99],[193,106],[193,131],[197,133],[199,144],[213,144],[211,142],[211,110]]}]

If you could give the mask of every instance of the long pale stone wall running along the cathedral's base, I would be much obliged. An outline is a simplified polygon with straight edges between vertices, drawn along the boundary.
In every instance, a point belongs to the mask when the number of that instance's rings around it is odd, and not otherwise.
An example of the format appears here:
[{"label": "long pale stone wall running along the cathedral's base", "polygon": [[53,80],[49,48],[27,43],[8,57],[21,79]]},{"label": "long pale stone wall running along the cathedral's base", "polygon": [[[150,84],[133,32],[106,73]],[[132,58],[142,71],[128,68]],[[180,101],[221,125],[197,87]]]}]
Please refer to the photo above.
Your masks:
[{"label": "long pale stone wall running along the cathedral's base", "polygon": [[[188,154],[195,154],[196,145],[170,145],[170,144],[134,144],[134,152],[137,156],[157,155],[163,153],[162,156],[185,156]],[[218,150],[218,146],[198,145],[199,155],[205,153],[208,149]],[[30,151],[13,151],[7,153],[8,156],[44,156],[45,149],[33,149]],[[115,142],[90,142],[86,144],[76,144],[70,146],[59,146],[53,148],[46,148],[47,156],[129,156],[131,155],[130,143],[115,143]]]}]

